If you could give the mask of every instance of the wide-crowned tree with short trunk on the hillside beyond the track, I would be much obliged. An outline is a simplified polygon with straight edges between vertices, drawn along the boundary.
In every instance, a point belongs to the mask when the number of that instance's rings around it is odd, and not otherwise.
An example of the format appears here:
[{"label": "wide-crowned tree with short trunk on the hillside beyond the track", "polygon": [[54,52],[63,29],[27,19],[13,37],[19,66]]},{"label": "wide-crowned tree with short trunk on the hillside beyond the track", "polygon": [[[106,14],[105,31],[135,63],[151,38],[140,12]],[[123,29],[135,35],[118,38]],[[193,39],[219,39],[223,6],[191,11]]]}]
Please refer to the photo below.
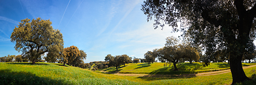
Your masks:
[{"label": "wide-crowned tree with short trunk on the hillside beyond the track", "polygon": [[177,37],[167,37],[165,47],[160,49],[154,49],[153,52],[148,51],[144,54],[148,64],[154,63],[155,58],[161,61],[168,61],[173,63],[174,70],[177,71],[176,64],[178,62],[184,61],[198,61],[200,59],[200,53],[194,47],[190,46],[188,43],[178,44],[179,39]]}]

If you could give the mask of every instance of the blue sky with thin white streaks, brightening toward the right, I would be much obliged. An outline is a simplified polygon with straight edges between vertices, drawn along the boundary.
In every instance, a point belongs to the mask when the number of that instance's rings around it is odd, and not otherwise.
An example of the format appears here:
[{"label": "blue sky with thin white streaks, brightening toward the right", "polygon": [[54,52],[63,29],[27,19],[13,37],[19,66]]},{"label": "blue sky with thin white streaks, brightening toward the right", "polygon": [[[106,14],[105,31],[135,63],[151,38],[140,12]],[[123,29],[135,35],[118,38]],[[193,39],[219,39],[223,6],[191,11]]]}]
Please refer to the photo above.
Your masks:
[{"label": "blue sky with thin white streaks, brightening toward the right", "polygon": [[153,29],[141,9],[142,0],[12,0],[0,1],[0,57],[18,55],[10,41],[21,19],[50,19],[63,34],[64,47],[77,46],[87,54],[85,63],[104,61],[107,54],[144,58],[163,47],[172,28]]}]

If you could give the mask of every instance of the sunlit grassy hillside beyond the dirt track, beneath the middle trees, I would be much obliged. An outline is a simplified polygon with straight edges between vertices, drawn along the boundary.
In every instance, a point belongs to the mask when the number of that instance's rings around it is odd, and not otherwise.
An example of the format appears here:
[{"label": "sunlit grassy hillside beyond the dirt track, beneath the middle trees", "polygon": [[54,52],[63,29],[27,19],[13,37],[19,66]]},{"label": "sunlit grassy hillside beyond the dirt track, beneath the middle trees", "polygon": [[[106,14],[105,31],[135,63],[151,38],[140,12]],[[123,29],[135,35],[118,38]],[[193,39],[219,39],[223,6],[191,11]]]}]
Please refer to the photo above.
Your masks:
[{"label": "sunlit grassy hillside beyond the dirt track, beneath the middle trees", "polygon": [[[203,67],[200,63],[179,63],[177,68],[179,71],[173,71],[173,64],[164,66],[165,63],[130,63],[126,66],[120,66],[118,68],[119,73],[135,73],[135,74],[195,74],[208,71],[218,71],[223,69],[229,69],[227,63],[210,63],[209,66]],[[253,65],[255,63],[243,63],[243,66]],[[115,68],[107,68],[101,71],[115,72]]]}]

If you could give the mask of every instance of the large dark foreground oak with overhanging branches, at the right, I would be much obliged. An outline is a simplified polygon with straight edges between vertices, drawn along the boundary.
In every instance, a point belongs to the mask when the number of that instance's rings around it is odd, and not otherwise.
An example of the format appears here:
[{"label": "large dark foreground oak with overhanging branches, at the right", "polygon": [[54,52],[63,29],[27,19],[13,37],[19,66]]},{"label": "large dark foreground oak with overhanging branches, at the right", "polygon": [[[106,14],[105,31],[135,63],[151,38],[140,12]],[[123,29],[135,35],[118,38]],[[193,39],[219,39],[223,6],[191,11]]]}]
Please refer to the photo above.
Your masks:
[{"label": "large dark foreground oak with overhanging branches, at the right", "polygon": [[[168,24],[173,31],[185,31],[206,53],[227,50],[230,53],[232,84],[248,79],[242,68],[243,53],[255,39],[256,1],[252,0],[146,0],[141,10],[155,29]],[[154,17],[154,18],[152,18]],[[164,23],[161,23],[163,21]],[[181,29],[178,29],[181,22]]]}]

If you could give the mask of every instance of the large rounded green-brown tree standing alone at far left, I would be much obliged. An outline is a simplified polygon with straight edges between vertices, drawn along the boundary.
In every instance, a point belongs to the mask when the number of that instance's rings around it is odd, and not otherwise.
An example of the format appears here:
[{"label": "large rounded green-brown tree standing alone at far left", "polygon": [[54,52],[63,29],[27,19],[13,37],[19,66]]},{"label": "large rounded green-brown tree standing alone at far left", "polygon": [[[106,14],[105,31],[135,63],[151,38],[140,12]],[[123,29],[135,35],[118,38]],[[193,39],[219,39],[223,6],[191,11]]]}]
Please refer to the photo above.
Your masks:
[{"label": "large rounded green-brown tree standing alone at far left", "polygon": [[63,36],[57,29],[53,29],[51,21],[37,19],[23,19],[11,34],[11,42],[16,42],[16,51],[28,54],[34,64],[36,60],[49,51],[53,46],[63,46]]}]

